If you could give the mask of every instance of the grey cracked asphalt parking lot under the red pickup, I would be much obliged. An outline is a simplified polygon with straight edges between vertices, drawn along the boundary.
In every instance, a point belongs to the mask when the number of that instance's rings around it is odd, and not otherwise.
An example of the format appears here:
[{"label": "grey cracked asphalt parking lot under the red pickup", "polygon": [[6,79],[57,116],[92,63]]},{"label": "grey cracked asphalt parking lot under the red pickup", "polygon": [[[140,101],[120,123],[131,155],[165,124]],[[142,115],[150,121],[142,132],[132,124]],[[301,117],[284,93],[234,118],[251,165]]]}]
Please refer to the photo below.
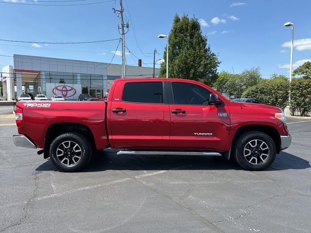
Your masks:
[{"label": "grey cracked asphalt parking lot under the red pickup", "polygon": [[0,233],[311,232],[311,121],[264,171],[219,157],[95,154],[77,173],[17,148],[0,119]]}]

